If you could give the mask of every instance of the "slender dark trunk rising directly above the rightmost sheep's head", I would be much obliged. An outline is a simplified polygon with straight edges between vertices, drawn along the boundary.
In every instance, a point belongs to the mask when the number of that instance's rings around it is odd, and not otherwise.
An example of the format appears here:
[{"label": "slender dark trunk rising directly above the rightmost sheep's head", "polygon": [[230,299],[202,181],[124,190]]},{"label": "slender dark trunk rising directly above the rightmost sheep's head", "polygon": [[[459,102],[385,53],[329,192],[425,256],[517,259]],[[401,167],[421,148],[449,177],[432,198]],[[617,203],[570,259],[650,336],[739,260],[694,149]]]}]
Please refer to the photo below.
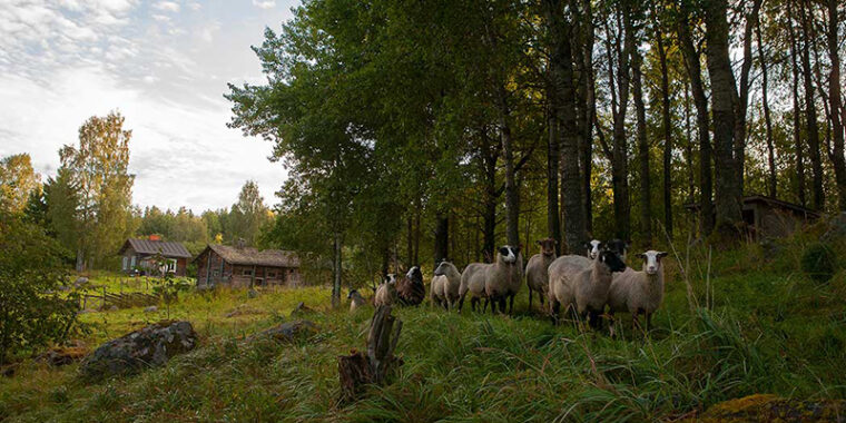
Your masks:
[{"label": "slender dark trunk rising directly above the rightmost sheep's head", "polygon": [[647,140],[647,112],[643,105],[641,75],[642,58],[637,49],[631,57],[631,89],[637,116],[638,161],[640,161],[640,236],[647,246],[652,245],[652,194],[649,170],[649,142]]}]

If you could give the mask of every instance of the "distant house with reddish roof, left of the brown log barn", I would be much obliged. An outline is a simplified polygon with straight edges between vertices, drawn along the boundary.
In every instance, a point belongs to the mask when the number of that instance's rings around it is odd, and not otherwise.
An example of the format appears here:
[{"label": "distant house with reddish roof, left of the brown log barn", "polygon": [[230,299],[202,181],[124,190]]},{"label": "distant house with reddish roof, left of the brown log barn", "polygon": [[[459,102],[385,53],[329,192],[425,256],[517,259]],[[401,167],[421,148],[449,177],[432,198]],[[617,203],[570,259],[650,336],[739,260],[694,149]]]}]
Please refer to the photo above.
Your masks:
[{"label": "distant house with reddish roof, left of the brown log barn", "polygon": [[188,258],[191,257],[188,249],[181,243],[161,240],[157,235],[150,235],[146,239],[127,239],[118,252],[122,256],[120,268],[128,274],[158,274],[158,254],[167,259],[167,272],[176,276],[186,275]]}]

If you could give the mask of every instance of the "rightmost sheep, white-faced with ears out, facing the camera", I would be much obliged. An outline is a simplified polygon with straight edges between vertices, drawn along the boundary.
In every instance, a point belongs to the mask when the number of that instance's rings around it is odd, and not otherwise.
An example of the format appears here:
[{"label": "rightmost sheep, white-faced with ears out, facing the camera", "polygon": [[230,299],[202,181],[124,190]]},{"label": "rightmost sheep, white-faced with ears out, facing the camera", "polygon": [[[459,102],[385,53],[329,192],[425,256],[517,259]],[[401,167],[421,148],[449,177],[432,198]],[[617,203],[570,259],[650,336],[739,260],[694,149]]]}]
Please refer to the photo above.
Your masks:
[{"label": "rightmost sheep, white-faced with ears out, facing the camera", "polygon": [[[613,276],[608,292],[609,314],[614,312],[628,312],[632,316],[632,327],[640,326],[638,315],[643,314],[647,318],[647,332],[652,319],[652,313],[661,306],[663,301],[663,265],[661,258],[667,253],[650,249],[638,254],[643,259],[642,270],[631,267],[623,273]],[[611,326],[613,334],[613,326]]]}]

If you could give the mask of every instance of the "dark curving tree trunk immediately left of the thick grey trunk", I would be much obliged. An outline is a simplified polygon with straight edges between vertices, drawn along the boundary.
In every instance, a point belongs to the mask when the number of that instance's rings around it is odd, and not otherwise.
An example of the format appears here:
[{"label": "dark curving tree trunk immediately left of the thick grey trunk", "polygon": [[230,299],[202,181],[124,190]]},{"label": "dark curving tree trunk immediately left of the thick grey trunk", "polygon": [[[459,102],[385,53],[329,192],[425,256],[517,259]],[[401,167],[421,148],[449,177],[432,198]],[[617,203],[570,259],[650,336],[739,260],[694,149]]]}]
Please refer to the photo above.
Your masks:
[{"label": "dark curving tree trunk immediately left of the thick grey trunk", "polygon": [[685,58],[685,68],[690,77],[690,91],[696,107],[697,134],[699,138],[699,223],[700,233],[708,236],[714,230],[714,203],[711,179],[711,141],[708,98],[705,96],[700,55],[693,47],[690,26],[686,13],[678,24],[679,49]]}]

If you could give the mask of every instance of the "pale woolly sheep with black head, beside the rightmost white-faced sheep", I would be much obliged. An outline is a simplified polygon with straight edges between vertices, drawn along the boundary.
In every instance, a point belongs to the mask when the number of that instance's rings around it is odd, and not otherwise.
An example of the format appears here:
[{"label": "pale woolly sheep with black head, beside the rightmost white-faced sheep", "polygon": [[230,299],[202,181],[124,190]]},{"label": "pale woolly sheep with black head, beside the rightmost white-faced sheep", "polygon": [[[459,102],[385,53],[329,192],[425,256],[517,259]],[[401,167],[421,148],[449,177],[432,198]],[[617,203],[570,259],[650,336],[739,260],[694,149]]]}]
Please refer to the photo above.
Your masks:
[{"label": "pale woolly sheep with black head, beside the rightmost white-faced sheep", "polygon": [[561,256],[549,266],[549,305],[553,322],[558,322],[559,307],[588,317],[592,327],[601,325],[600,314],[608,302],[612,273],[622,272],[626,264],[617,253],[600,248],[597,258]]}]

